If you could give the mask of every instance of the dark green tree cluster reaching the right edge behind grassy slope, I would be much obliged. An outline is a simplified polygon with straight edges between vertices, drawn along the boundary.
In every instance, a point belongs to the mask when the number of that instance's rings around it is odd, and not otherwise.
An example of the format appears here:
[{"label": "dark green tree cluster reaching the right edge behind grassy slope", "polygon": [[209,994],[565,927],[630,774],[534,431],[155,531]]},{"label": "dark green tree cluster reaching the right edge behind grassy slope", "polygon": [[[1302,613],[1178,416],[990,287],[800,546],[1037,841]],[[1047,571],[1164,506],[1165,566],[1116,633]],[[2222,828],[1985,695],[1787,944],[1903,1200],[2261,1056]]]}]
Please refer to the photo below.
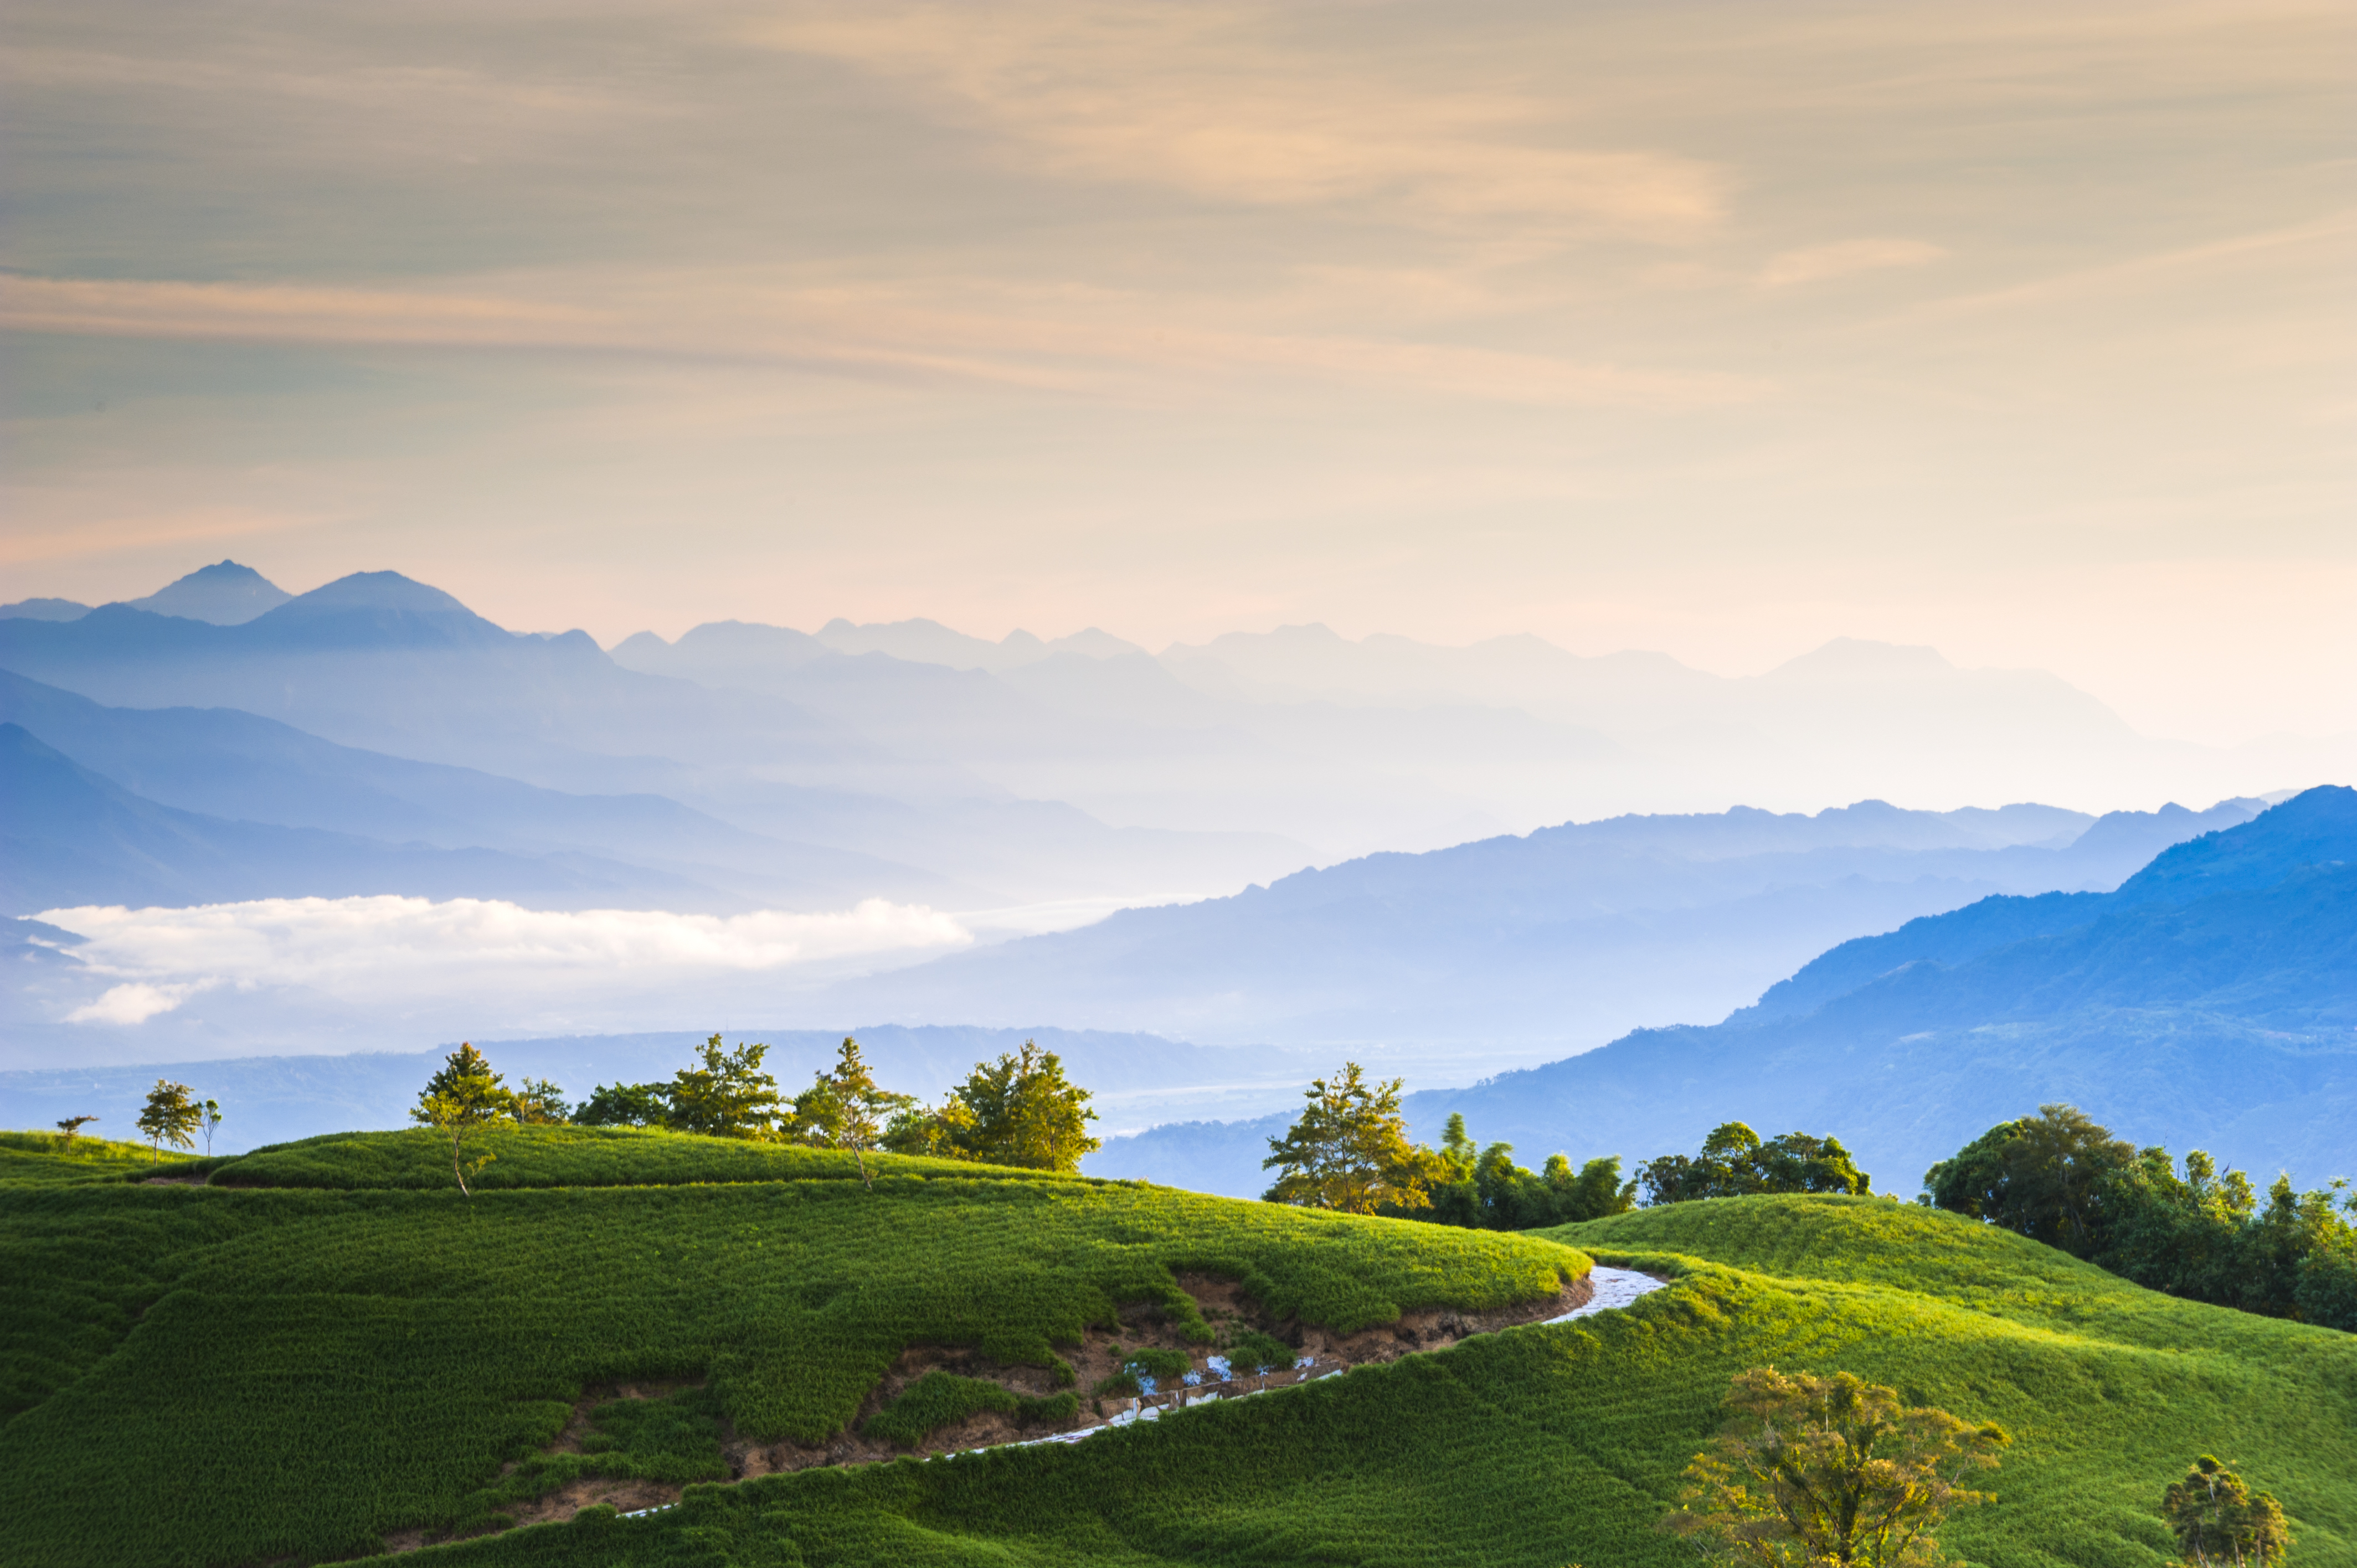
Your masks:
[{"label": "dark green tree cluster reaching the right edge behind grassy slope", "polygon": [[2357,1332],[2357,1214],[2348,1181],[2293,1191],[2199,1148],[2114,1139],[2077,1106],[2001,1122],[1923,1174],[1923,1203],[2020,1231],[2194,1302]]}]

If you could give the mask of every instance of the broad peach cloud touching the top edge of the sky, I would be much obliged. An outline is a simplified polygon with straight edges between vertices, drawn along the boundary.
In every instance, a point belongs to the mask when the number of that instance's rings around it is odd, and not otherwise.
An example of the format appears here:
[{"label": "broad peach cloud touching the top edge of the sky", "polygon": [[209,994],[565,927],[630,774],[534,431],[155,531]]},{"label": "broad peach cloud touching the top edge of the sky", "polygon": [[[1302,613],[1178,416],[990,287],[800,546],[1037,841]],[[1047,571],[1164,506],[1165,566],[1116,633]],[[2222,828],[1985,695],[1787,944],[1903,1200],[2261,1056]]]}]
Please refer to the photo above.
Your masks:
[{"label": "broad peach cloud touching the top edge of the sky", "polygon": [[1695,238],[1725,212],[1711,163],[1589,146],[1537,92],[1384,73],[1287,47],[1280,26],[1237,5],[877,5],[797,12],[752,38],[907,83],[1063,179],[1648,241]]}]

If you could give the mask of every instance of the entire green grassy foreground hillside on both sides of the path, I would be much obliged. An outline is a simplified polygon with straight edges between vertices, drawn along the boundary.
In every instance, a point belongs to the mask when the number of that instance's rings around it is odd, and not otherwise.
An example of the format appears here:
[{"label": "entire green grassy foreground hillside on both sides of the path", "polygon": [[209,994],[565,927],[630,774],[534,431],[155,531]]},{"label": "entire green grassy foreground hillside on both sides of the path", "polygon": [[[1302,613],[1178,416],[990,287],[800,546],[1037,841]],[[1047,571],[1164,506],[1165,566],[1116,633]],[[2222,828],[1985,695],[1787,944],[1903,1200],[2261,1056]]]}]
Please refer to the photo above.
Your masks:
[{"label": "entire green grassy foreground hillside on both sides of the path", "polygon": [[[1690,1561],[1652,1528],[1678,1469],[1728,1377],[1775,1363],[2003,1422],[1999,1502],[1947,1533],[1975,1563],[2164,1563],[2159,1493],[2218,1452],[2282,1497],[2296,1563],[2357,1566],[2357,1337],[1952,1214],[1747,1198],[1497,1236],[905,1160],[867,1193],[825,1155],[752,1177],[742,1148],[634,1137],[667,1186],[533,1186],[622,1148],[533,1132],[474,1203],[394,1186],[424,1144],[401,1134],[203,1188],[0,1184],[0,1563],[323,1561],[481,1518],[589,1462],[530,1455],[592,1384],[693,1384],[601,1405],[582,1443],[686,1481],[712,1434],[839,1434],[905,1346],[1051,1370],[1124,1302],[1209,1332],[1181,1273],[1353,1332],[1539,1299],[1593,1254],[1676,1283],[1075,1445],[693,1485],[384,1561],[1666,1566]],[[707,1151],[724,1179],[684,1184]],[[257,1177],[304,1186],[226,1186]]]}]

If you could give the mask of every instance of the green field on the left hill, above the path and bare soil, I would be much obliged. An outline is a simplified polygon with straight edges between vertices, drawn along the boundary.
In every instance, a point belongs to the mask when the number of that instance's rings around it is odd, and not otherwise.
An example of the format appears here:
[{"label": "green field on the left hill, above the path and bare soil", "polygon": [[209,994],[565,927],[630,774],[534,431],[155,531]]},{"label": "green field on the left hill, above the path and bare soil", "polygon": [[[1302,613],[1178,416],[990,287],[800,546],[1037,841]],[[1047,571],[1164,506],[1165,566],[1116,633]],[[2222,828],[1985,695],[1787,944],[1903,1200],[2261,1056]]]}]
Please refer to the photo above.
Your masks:
[{"label": "green field on the left hill, above the path and bare soil", "polygon": [[[700,1377],[738,1434],[820,1441],[912,1344],[1054,1365],[1124,1302],[1209,1337],[1188,1269],[1339,1332],[1586,1269],[1534,1236],[936,1162],[872,1193],[823,1158],[745,1179],[735,1148],[665,1137],[629,1158],[674,1186],[363,1186],[422,1144],[377,1134],[217,1172],[311,1186],[0,1188],[0,1563],[365,1551],[495,1507],[502,1464],[620,1379]],[[610,1167],[606,1141],[519,1137],[490,1172],[585,1148]]]}]

